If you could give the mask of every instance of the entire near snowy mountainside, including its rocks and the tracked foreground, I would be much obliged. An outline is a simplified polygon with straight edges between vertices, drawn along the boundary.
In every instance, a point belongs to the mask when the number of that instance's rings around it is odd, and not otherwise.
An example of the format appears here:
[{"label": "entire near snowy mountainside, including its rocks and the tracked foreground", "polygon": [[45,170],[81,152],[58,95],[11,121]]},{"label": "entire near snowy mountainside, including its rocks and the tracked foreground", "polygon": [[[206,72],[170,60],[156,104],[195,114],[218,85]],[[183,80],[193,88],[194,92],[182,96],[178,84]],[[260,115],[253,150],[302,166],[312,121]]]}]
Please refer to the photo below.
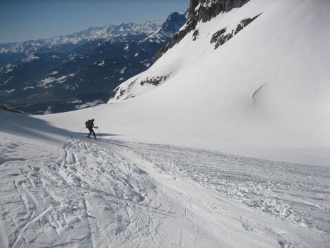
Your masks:
[{"label": "entire near snowy mountainside, including its rocks and the tracked foreground", "polygon": [[0,247],[329,247],[329,12],[192,0],[109,104],[0,109]]}]

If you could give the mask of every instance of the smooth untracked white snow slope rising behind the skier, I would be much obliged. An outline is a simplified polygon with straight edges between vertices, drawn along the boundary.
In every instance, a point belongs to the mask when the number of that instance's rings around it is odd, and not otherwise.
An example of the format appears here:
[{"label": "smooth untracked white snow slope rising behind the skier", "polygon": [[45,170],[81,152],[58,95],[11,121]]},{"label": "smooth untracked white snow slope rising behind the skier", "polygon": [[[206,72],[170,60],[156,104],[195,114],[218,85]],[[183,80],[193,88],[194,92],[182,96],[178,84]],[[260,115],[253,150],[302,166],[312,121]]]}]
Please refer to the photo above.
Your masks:
[{"label": "smooth untracked white snow slope rising behind the skier", "polygon": [[[329,166],[329,10],[329,1],[249,1],[198,23],[195,41],[192,31],[108,106],[41,118],[76,131],[96,117],[121,139]],[[214,49],[214,32],[258,14]]]}]

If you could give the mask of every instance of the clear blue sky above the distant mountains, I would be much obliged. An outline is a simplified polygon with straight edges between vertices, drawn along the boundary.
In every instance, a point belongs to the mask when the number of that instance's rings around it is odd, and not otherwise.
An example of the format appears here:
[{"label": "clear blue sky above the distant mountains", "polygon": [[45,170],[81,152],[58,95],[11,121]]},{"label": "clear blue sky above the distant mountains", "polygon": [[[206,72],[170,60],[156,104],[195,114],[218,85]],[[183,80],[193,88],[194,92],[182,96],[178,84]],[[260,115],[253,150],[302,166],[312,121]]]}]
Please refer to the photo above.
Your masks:
[{"label": "clear blue sky above the distant mountains", "polygon": [[0,43],[50,38],[87,27],[165,20],[189,0],[0,0]]}]

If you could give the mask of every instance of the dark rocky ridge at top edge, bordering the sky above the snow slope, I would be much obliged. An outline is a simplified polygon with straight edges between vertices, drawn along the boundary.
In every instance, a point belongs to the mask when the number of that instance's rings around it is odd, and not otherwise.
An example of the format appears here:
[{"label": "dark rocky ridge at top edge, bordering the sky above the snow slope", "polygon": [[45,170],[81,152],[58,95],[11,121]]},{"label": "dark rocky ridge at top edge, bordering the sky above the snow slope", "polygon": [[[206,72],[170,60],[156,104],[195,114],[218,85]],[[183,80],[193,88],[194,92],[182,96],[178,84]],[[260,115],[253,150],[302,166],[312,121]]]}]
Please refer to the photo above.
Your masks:
[{"label": "dark rocky ridge at top edge, bordering the sky above the snow slope", "polygon": [[172,41],[167,43],[155,55],[155,60],[160,58],[168,49],[172,48],[175,44],[179,43],[186,34],[195,30],[199,21],[210,21],[214,16],[221,12],[228,12],[233,8],[239,8],[250,0],[190,0],[188,21],[186,26],[179,30]]}]

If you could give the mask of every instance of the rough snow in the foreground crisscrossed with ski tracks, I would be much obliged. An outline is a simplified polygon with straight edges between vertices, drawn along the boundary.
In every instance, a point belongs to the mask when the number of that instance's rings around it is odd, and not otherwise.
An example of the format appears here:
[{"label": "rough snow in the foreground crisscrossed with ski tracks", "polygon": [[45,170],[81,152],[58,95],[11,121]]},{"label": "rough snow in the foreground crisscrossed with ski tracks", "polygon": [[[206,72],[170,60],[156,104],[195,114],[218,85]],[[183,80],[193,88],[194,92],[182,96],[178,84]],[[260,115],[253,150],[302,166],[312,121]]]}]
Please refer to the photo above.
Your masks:
[{"label": "rough snow in the foreground crisscrossed with ski tracks", "polygon": [[325,167],[80,137],[0,150],[0,247],[330,245]]}]

